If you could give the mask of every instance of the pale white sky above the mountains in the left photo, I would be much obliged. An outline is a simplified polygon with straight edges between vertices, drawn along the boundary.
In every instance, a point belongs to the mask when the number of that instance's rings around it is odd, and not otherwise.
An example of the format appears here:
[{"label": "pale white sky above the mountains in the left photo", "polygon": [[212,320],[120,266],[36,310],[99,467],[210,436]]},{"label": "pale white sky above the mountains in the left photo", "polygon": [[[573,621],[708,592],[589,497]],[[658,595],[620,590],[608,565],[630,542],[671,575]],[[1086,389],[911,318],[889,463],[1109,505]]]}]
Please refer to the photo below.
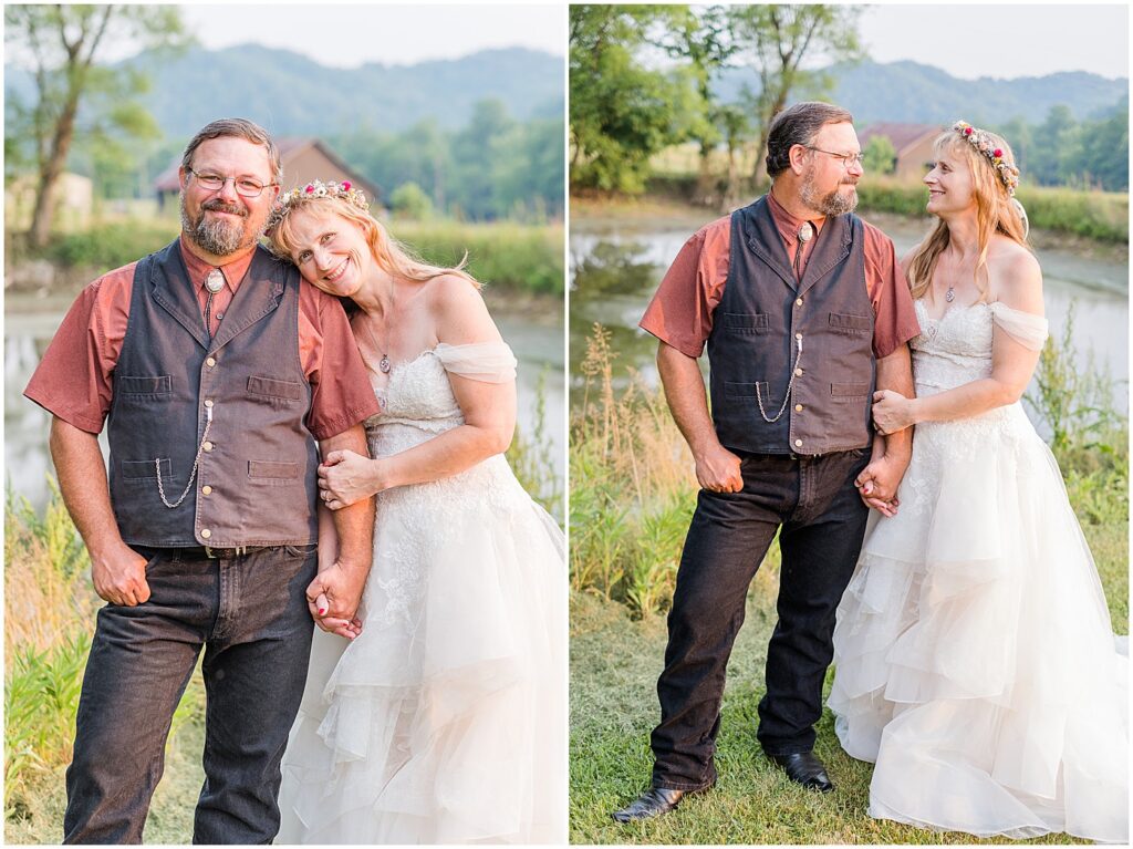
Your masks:
[{"label": "pale white sky above the mountains in the left photo", "polygon": [[255,42],[341,68],[455,59],[491,48],[566,54],[562,3],[194,5],[182,6],[181,11],[206,48]]}]

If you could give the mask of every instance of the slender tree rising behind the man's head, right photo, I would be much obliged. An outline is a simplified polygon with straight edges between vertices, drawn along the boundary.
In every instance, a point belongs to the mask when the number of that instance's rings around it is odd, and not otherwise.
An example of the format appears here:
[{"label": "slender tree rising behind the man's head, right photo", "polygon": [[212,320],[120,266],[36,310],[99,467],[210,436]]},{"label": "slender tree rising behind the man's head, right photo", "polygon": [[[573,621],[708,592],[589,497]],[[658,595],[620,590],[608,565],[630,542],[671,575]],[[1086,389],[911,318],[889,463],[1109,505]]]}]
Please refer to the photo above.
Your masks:
[{"label": "slender tree rising behind the man's head, right photo", "polygon": [[755,111],[759,121],[759,147],[753,177],[766,176],[764,155],[772,119],[786,107],[792,93],[819,97],[829,92],[829,74],[803,67],[816,58],[827,66],[857,61],[858,16],[853,6],[732,6],[729,19],[742,56],[759,76]]}]

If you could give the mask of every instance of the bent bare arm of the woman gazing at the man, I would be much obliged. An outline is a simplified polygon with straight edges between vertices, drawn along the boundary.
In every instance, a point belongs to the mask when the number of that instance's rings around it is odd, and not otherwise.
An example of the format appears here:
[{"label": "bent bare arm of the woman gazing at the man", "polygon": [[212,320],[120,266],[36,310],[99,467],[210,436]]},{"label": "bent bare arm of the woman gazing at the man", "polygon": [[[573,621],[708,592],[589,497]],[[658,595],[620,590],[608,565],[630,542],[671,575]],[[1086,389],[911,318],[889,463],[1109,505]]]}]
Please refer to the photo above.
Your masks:
[{"label": "bent bare arm of the woman gazing at the man", "polygon": [[[1000,262],[998,283],[989,297],[1014,309],[1042,315],[1042,272],[1026,252],[1013,252]],[[889,390],[874,394],[874,422],[883,433],[893,433],[920,422],[948,422],[987,413],[1022,398],[1039,362],[1031,350],[998,324],[991,338],[991,375],[925,398],[905,398]]]}]

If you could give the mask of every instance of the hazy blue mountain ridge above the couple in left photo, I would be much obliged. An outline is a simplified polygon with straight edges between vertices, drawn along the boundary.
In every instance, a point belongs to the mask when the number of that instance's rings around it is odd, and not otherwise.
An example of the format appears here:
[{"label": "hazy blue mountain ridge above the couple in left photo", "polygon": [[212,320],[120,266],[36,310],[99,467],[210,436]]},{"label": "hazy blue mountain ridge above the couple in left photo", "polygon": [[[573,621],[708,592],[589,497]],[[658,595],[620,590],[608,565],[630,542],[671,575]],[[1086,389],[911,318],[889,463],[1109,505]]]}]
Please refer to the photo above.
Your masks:
[{"label": "hazy blue mountain ridge above the couple in left photo", "polygon": [[[171,138],[208,121],[250,118],[275,135],[335,135],[369,127],[398,131],[423,118],[463,127],[474,104],[497,97],[517,119],[561,116],[563,59],[512,48],[416,65],[342,69],[257,44],[193,48],[176,59],[143,53],[123,65],[152,80],[146,108]],[[26,91],[26,75],[6,68],[7,91]]]}]

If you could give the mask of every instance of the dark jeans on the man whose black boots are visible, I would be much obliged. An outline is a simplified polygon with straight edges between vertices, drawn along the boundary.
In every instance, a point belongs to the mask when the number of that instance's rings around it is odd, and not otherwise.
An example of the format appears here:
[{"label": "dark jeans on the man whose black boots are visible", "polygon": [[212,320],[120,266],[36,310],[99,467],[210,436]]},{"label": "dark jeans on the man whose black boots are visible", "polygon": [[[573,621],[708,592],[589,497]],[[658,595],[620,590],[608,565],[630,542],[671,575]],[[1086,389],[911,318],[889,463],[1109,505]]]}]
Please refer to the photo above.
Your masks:
[{"label": "dark jeans on the man whose black boots are visible", "polygon": [[868,509],[853,481],[868,451],[741,459],[743,490],[702,490],[684,540],[665,671],[657,681],[655,787],[699,790],[716,780],[727,660],[743,625],[748,586],[780,528],[778,623],[767,648],[757,736],[775,755],[815,745],[823,680],[834,656],[834,612],[866,533]]}]

